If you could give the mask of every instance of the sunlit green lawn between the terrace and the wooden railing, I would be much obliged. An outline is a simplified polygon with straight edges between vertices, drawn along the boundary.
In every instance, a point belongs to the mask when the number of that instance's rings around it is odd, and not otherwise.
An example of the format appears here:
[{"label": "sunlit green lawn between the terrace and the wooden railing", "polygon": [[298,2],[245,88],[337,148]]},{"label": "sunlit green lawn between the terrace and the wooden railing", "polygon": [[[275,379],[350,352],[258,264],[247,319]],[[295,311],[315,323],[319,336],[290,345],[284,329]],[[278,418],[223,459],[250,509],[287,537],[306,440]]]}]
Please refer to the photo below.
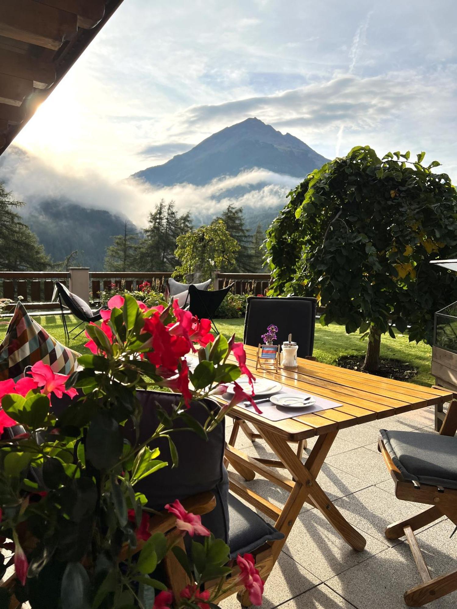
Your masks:
[{"label": "sunlit green lawn between the terrace and the wooden railing", "polygon": [[[45,328],[49,334],[54,336],[60,342],[65,342],[63,334],[63,325],[60,315],[34,315],[34,319]],[[76,325],[76,320],[73,317],[67,317],[68,325],[72,328]],[[0,322],[0,337],[2,338],[7,322]],[[235,332],[236,340],[243,340],[243,324],[244,319],[218,319],[216,320],[219,330],[225,336],[231,336]],[[79,353],[85,352],[84,343],[87,341],[84,334],[81,334],[77,339],[72,340],[70,347]],[[322,328],[319,323],[316,324],[316,336],[314,339],[314,356],[317,361],[325,364],[335,364],[338,357],[344,355],[364,354],[366,351],[366,340],[361,341],[358,334],[346,334],[342,326],[331,324],[326,328]],[[417,375],[410,382],[416,382],[420,385],[431,385],[434,382],[433,376],[430,374],[431,365],[431,347],[424,343],[410,343],[408,336],[397,334],[397,339],[391,339],[389,336],[383,336],[381,341],[381,357],[392,357],[399,359],[402,362],[408,362],[418,370]]]}]

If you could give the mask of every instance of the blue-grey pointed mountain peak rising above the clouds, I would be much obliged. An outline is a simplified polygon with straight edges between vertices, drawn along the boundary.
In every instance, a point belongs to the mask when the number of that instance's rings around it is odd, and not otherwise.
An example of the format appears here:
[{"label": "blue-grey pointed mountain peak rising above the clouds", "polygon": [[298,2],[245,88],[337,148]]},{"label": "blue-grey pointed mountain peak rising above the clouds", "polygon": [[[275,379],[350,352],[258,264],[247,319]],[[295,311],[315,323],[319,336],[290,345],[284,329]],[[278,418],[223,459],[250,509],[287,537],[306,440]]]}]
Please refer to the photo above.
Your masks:
[{"label": "blue-grey pointed mountain peak rising above the clouds", "polygon": [[254,116],[213,133],[188,152],[133,177],[162,186],[183,182],[203,185],[257,167],[302,178],[326,162],[299,138],[283,135]]}]

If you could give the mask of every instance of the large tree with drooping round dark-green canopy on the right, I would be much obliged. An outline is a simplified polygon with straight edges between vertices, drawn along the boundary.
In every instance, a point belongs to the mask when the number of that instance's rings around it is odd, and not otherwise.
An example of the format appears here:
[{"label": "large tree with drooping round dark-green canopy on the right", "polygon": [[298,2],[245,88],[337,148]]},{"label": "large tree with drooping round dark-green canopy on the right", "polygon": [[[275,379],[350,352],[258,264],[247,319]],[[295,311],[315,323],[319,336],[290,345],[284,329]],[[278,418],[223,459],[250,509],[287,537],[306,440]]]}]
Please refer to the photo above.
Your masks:
[{"label": "large tree with drooping round dark-green canopy on the right", "polygon": [[434,312],[457,300],[456,274],[429,264],[456,257],[456,189],[425,152],[409,157],[356,146],[289,192],[267,230],[269,294],[314,295],[322,325],[368,336],[365,370],[392,325],[431,343]]}]

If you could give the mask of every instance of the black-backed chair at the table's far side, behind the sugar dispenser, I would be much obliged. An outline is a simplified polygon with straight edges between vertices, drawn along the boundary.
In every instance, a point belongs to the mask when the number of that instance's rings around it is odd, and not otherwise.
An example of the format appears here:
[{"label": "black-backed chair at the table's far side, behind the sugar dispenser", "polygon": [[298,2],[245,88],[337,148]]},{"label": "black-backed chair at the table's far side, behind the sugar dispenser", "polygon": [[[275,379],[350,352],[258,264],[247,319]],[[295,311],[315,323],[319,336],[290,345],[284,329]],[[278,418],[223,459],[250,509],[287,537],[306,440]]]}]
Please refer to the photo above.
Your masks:
[{"label": "black-backed chair at the table's far side, behind the sugar dispenser", "polygon": [[[298,345],[297,356],[316,359],[313,357],[316,298],[249,297],[244,318],[244,344],[258,347],[262,342],[262,334],[266,332],[267,326],[271,323],[278,326],[277,342],[279,345],[288,340],[289,334],[292,334],[292,340]],[[246,421],[235,419],[230,445],[234,445],[239,429],[252,441],[261,438],[260,434],[255,434],[250,429]],[[297,446],[299,457],[304,448],[306,448],[306,440],[300,440]],[[271,462],[271,465],[273,464],[274,462]]]}]

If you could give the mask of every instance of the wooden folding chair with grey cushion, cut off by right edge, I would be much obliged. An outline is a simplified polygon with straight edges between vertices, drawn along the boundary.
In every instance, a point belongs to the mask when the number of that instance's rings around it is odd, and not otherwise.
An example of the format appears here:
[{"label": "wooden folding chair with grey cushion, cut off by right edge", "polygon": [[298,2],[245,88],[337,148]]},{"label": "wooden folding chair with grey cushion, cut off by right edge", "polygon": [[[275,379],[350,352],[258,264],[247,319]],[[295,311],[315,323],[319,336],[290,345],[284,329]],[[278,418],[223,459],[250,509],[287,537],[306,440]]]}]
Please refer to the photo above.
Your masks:
[{"label": "wooden folding chair with grey cushion, cut off by right edge", "polygon": [[[388,539],[406,535],[422,583],[405,592],[408,607],[422,607],[457,590],[457,568],[431,577],[414,531],[447,516],[457,526],[457,401],[447,411],[439,435],[380,430],[378,449],[395,481],[395,496],[429,504],[424,512],[386,529]],[[433,530],[433,529],[432,529]]]}]

